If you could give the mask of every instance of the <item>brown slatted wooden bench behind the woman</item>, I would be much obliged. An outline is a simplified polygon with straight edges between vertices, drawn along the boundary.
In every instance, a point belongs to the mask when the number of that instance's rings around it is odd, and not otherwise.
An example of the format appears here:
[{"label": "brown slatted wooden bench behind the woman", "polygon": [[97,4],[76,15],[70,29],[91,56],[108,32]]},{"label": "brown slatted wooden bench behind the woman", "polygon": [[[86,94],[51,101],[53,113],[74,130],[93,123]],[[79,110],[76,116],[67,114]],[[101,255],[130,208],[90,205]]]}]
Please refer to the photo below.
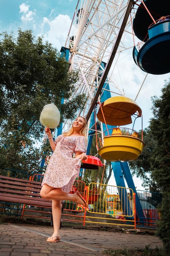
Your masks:
[{"label": "brown slatted wooden bench behind the woman", "polygon": [[[84,182],[75,180],[75,182],[78,184],[77,186],[79,187],[79,191],[82,192],[82,187],[83,184],[85,185]],[[46,218],[50,219],[52,223],[52,200],[47,200],[44,198],[41,198],[40,196],[40,190],[42,188],[41,186],[42,182],[38,181],[32,181],[32,180],[23,180],[23,179],[18,179],[18,178],[13,178],[13,177],[7,177],[7,176],[2,176],[0,175],[0,209],[10,209],[9,213],[2,213],[2,214],[9,214],[13,216],[21,216],[21,219],[24,217],[33,217],[33,218]],[[74,186],[73,186],[74,188]],[[71,191],[70,193],[74,193],[75,191]],[[73,209],[73,203],[71,207],[71,203],[69,201],[65,201],[65,204],[70,204],[69,209],[66,207],[66,210],[71,212],[70,214],[63,213],[62,216],[63,220],[66,221],[71,221],[73,218],[77,222],[82,222],[83,225],[85,225],[85,218],[86,218],[86,211],[84,211],[82,215],[83,209],[78,210],[79,215],[77,214],[76,210],[76,215],[72,212],[75,211]],[[17,204],[17,208],[16,207]],[[63,206],[64,208],[64,206]],[[20,212],[19,214],[14,214],[11,211],[18,211]],[[26,213],[27,214],[26,214]],[[29,213],[29,215],[28,215]],[[68,218],[68,216],[71,216]]]}]

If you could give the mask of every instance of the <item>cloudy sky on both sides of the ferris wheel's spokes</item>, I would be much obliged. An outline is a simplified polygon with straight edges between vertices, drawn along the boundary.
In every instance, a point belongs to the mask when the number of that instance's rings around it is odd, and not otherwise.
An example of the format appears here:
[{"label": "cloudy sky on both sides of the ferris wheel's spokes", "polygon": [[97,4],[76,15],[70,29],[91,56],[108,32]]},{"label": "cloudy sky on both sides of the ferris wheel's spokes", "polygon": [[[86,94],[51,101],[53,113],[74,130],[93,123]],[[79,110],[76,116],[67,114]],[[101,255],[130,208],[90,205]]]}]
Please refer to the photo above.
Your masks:
[{"label": "cloudy sky on both sides of the ferris wheel's spokes", "polygon": [[[43,35],[44,40],[48,40],[60,51],[66,43],[76,5],[77,0],[0,0],[0,33],[7,31],[17,34],[19,28],[31,29],[35,36]],[[125,60],[128,58],[126,72],[120,79],[117,79],[117,83],[124,87],[126,97],[135,99],[146,73],[137,67],[132,60],[132,54],[130,54],[129,52],[125,53]],[[121,64],[120,68],[124,70],[124,66],[121,67]],[[164,81],[169,78],[170,73],[148,74],[137,97],[137,103],[143,113],[143,128],[148,127],[152,117],[151,97],[161,95]],[[138,84],[138,88],[136,88],[136,84]],[[143,189],[140,180],[137,180],[137,189]]]}]

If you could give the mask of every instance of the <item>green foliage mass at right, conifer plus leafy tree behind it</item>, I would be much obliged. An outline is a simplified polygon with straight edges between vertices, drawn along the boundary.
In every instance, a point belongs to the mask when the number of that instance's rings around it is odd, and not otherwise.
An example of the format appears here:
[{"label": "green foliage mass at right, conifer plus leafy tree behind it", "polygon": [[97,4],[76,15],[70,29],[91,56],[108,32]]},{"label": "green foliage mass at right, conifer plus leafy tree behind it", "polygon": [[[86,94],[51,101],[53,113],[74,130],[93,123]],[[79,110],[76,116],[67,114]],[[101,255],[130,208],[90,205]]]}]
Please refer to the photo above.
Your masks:
[{"label": "green foliage mass at right, conifer plus leafy tree behind it", "polygon": [[[163,241],[162,255],[170,252],[170,81],[166,81],[160,98],[152,97],[153,118],[144,130],[144,150],[137,160],[129,162],[132,173],[150,184],[151,191],[161,192],[161,219],[156,234]],[[149,179],[148,179],[149,178]]]}]

